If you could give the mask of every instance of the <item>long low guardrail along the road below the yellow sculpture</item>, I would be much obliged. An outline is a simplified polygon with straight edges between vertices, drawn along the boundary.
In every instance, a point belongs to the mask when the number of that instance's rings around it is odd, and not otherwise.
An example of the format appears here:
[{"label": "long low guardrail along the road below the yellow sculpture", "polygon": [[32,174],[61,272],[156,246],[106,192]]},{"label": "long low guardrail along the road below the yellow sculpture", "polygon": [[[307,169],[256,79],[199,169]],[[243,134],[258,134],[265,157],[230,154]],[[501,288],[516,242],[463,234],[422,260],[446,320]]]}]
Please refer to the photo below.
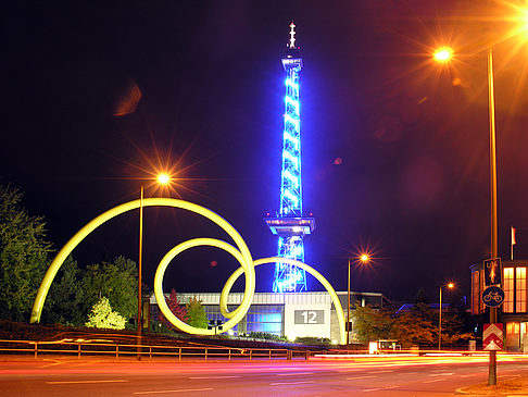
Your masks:
[{"label": "long low guardrail along the road below the yellow sculpture", "polygon": [[77,358],[106,356],[115,359],[124,357],[155,358],[173,357],[183,359],[244,359],[244,360],[293,360],[310,358],[309,350],[235,348],[222,346],[165,346],[130,345],[86,340],[0,340],[0,352],[33,355],[35,358],[49,355],[67,355]]}]

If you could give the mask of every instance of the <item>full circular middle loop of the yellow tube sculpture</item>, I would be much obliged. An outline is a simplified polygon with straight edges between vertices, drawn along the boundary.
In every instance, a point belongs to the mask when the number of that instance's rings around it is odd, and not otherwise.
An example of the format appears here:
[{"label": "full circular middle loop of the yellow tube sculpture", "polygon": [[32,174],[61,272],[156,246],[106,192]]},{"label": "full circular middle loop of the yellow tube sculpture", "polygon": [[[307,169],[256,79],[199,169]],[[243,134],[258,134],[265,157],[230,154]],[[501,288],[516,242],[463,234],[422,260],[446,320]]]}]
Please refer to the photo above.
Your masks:
[{"label": "full circular middle loop of the yellow tube sculpture", "polygon": [[[226,332],[230,328],[232,328],[235,325],[237,325],[240,320],[246,315],[246,313],[249,310],[249,307],[251,305],[251,300],[253,299],[253,294],[254,294],[254,286],[251,288],[251,271],[254,273],[253,269],[253,263],[247,263],[243,260],[242,255],[238,249],[236,249],[234,246],[230,244],[227,244],[226,241],[218,240],[215,238],[194,238],[190,239],[187,241],[184,241],[173,249],[171,249],[165,257],[161,260],[160,264],[158,265],[158,270],[155,272],[154,276],[154,295],[155,295],[155,300],[158,301],[158,306],[160,307],[160,310],[162,311],[163,315],[177,328],[187,332],[189,334],[196,334],[196,335],[215,335],[217,332],[214,330],[204,330],[204,328],[197,328],[194,326],[188,325],[184,323],[181,320],[179,320],[174,313],[171,311],[168,308],[168,305],[165,301],[165,297],[163,295],[163,276],[165,275],[165,270],[167,269],[168,264],[180,252],[185,251],[186,249],[192,248],[192,247],[199,247],[199,246],[211,246],[211,247],[217,247],[221,249],[226,250],[230,255],[232,255],[238,262],[240,263],[241,268],[240,269],[242,272],[246,273],[246,290],[244,290],[244,299],[242,299],[242,303],[231,313],[226,313],[224,317],[226,318],[231,318],[229,321],[227,321],[225,324],[223,324],[223,330],[222,332]],[[248,299],[248,303],[244,302],[246,297],[250,297]],[[221,299],[221,308],[224,305],[224,307],[227,308],[226,301]]]}]

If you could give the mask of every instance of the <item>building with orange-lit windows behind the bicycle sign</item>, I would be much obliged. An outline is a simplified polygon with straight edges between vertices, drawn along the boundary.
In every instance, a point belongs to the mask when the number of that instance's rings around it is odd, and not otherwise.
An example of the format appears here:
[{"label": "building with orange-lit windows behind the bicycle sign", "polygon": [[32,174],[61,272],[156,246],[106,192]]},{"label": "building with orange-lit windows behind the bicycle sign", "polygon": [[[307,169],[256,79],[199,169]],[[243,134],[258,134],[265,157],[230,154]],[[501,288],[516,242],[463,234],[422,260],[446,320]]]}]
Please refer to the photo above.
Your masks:
[{"label": "building with orange-lit windows behind the bicycle sign", "polygon": [[[502,262],[502,288],[504,302],[499,310],[499,321],[504,323],[505,348],[512,351],[528,351],[528,297],[526,271],[528,260]],[[486,289],[483,264],[470,266],[472,270],[472,314],[481,315],[482,322],[489,322],[486,317],[486,306],[482,293]]]}]

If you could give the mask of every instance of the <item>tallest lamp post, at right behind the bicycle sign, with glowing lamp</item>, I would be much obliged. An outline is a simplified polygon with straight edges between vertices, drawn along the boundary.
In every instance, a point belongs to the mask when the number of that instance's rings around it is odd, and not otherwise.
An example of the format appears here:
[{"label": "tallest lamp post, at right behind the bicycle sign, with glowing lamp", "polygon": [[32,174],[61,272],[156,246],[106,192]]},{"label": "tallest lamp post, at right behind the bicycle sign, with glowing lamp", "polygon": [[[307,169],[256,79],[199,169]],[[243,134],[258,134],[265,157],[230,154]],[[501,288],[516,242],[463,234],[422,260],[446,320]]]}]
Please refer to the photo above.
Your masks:
[{"label": "tallest lamp post, at right behind the bicycle sign, with glowing lamp", "polygon": [[[452,50],[444,47],[435,52],[438,62],[447,62]],[[491,190],[491,258],[498,256],[496,243],[496,135],[495,135],[495,97],[493,90],[493,50],[488,47],[488,113],[490,126],[490,190]],[[496,308],[490,308],[490,323],[496,322]],[[496,385],[496,351],[490,350],[488,385]]]}]

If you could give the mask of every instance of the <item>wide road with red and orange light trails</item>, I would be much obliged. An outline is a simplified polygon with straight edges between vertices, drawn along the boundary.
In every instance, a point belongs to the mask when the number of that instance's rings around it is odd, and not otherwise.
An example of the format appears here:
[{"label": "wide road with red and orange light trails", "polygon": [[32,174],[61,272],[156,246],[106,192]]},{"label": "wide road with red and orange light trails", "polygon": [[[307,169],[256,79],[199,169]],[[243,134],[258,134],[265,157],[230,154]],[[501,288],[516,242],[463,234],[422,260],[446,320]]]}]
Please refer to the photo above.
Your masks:
[{"label": "wide road with red and orange light trails", "polygon": [[[499,380],[528,356],[500,356]],[[172,362],[0,358],[0,396],[453,396],[487,382],[488,357]]]}]

